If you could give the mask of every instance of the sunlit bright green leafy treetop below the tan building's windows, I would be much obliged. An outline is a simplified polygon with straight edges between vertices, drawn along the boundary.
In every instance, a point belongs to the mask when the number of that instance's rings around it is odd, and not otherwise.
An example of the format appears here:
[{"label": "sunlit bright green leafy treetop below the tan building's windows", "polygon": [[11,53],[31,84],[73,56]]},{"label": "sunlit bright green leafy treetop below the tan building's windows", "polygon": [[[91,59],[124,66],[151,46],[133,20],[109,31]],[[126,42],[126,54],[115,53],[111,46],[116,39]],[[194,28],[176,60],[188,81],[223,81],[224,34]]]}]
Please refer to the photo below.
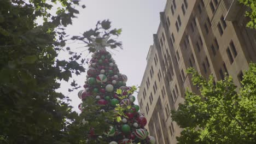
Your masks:
[{"label": "sunlit bright green leafy treetop below the tan building's windows", "polygon": [[194,69],[193,84],[201,95],[186,92],[184,104],[172,110],[172,119],[184,128],[179,143],[255,143],[256,142],[256,64],[250,64],[237,93],[231,77],[213,84]]}]

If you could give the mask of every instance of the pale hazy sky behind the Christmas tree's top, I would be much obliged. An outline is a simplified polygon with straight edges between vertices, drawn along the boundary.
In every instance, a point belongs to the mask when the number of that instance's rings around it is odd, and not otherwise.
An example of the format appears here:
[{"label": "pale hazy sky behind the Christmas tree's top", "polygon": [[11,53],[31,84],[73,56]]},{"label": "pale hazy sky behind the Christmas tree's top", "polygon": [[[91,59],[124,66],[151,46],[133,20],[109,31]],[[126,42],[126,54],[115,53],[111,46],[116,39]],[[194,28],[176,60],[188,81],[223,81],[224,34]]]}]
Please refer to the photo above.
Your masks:
[{"label": "pale hazy sky behind the Christmas tree's top", "polygon": [[[166,0],[83,0],[80,5],[86,5],[85,9],[78,8],[80,14],[73,19],[73,25],[67,27],[67,34],[79,35],[91,28],[95,28],[97,21],[106,20],[112,22],[112,28],[121,28],[122,33],[117,39],[122,41],[123,50],[113,51],[112,57],[118,65],[119,71],[128,77],[127,86],[139,86],[143,78],[144,70],[147,65],[146,57],[149,46],[153,44],[153,34],[158,30],[160,23],[160,11],[164,11]],[[83,51],[83,44],[68,44],[71,50]],[[86,57],[88,52],[84,52]],[[66,55],[59,55],[59,58],[67,58]],[[91,58],[87,56],[86,58]],[[78,85],[84,85],[86,73],[74,76]],[[72,100],[70,104],[74,110],[79,112],[78,105],[82,101],[77,93],[83,89],[71,93],[68,92],[69,84],[61,81],[61,88],[58,92]],[[135,94],[136,95],[136,94]],[[137,99],[136,102],[137,103]]]}]

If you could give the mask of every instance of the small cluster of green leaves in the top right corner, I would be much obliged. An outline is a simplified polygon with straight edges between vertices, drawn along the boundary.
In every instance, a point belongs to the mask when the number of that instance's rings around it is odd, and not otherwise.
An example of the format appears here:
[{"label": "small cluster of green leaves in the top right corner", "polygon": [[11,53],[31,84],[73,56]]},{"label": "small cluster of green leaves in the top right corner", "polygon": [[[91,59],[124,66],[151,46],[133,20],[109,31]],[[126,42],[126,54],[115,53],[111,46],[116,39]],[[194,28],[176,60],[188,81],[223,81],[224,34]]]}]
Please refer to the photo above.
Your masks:
[{"label": "small cluster of green leaves in the top right corner", "polygon": [[251,21],[247,23],[247,27],[256,29],[256,1],[255,0],[238,0],[240,3],[250,8],[246,11],[246,16],[250,17]]}]

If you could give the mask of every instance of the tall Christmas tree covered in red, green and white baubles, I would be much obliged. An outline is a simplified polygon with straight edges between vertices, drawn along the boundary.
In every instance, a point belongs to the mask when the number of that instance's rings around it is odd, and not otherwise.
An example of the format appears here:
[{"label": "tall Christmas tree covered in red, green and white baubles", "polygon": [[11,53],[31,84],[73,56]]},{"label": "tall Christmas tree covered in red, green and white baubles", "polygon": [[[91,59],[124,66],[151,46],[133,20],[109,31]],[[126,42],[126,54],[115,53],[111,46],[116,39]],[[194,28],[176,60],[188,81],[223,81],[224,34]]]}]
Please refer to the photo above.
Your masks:
[{"label": "tall Christmas tree covered in red, green and white baubles", "polygon": [[[107,21],[108,22],[108,21]],[[108,23],[107,23],[108,24]],[[98,23],[103,29],[106,21]],[[96,28],[87,35],[89,51],[92,52],[88,61],[84,89],[78,97],[83,103],[82,127],[85,131],[84,143],[155,143],[153,136],[145,127],[147,119],[134,104],[133,92],[136,87],[126,86],[127,76],[119,73],[119,69],[108,49],[120,43],[110,39],[118,35],[120,30],[98,32]]]}]

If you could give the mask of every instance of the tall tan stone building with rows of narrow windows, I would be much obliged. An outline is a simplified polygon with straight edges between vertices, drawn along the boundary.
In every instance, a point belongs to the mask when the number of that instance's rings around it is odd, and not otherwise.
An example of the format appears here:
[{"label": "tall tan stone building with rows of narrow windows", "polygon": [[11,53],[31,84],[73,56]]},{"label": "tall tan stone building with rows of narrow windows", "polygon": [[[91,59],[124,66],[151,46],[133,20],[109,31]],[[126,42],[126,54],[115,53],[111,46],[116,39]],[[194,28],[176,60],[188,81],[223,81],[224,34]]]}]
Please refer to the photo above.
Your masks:
[{"label": "tall tan stone building with rows of narrow windows", "polygon": [[177,143],[182,129],[170,111],[183,103],[186,88],[199,93],[187,68],[216,81],[226,73],[239,87],[243,70],[256,62],[256,32],[245,27],[246,9],[236,0],[167,0],[138,93],[146,127],[158,143]]}]

